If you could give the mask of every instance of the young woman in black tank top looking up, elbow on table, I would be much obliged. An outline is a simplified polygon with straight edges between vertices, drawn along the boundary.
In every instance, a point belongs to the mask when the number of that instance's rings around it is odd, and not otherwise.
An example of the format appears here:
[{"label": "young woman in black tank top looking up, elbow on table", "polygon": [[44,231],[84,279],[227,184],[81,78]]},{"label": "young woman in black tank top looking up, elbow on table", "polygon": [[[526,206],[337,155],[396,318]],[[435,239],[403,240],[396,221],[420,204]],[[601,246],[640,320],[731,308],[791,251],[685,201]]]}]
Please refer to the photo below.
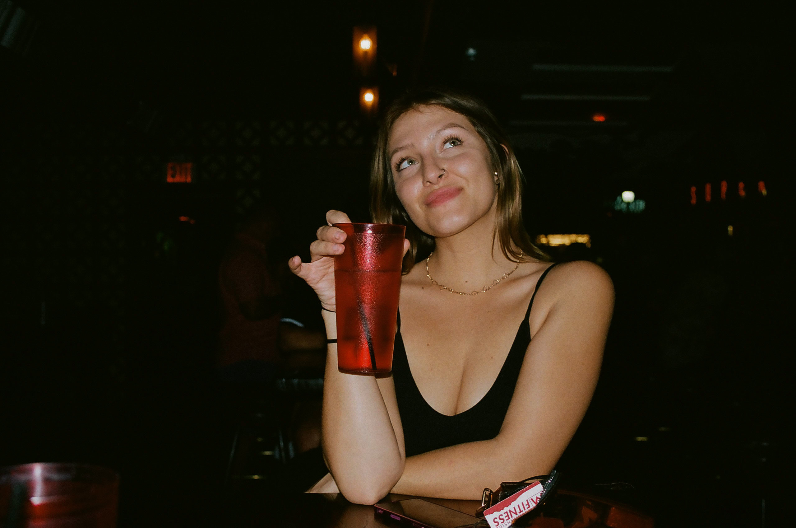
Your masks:
[{"label": "young woman in black tank top looking up, elbow on table", "polygon": [[[614,293],[595,264],[550,264],[522,227],[509,139],[470,96],[404,96],[384,116],[373,220],[407,225],[392,375],[338,371],[328,348],[322,446],[310,491],[373,504],[389,492],[480,499],[549,473],[591,401]],[[336,338],[334,256],[347,222],[326,214],[311,262],[290,267]],[[555,267],[554,267],[555,266]],[[542,281],[544,280],[544,285]]]}]

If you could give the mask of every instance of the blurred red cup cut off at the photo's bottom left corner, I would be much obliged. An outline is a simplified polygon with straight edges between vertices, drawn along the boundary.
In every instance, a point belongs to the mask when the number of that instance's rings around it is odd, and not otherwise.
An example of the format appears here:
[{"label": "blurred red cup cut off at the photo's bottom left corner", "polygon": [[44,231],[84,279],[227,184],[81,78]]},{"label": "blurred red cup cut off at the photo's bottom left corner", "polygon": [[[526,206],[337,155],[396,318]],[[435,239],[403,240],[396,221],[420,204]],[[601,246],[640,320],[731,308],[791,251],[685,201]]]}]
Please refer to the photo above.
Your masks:
[{"label": "blurred red cup cut off at the photo's bottom left corner", "polygon": [[119,475],[79,463],[0,468],[0,525],[115,528]]}]

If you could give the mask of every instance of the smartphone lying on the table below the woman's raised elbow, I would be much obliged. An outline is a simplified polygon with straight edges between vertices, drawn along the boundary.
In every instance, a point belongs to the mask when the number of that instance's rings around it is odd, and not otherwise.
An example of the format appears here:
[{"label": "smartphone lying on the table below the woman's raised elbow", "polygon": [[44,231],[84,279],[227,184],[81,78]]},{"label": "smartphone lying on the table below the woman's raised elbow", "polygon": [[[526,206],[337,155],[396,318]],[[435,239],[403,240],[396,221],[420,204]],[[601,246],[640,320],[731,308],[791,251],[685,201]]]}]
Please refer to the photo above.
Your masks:
[{"label": "smartphone lying on the table below the woman's raised elbow", "polygon": [[412,528],[486,528],[482,518],[463,514],[461,511],[439,506],[423,499],[404,499],[394,503],[378,503],[377,515],[391,518],[400,526]]}]

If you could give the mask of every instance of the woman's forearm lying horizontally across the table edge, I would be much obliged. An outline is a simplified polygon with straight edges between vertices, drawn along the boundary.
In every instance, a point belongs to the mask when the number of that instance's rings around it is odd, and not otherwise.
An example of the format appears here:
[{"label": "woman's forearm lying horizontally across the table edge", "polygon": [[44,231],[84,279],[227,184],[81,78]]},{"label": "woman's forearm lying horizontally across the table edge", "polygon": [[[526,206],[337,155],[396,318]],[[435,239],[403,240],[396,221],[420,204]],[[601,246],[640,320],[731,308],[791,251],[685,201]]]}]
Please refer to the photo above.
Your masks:
[{"label": "woman's forearm lying horizontally across the table edge", "polygon": [[529,454],[513,456],[497,438],[468,442],[408,456],[392,493],[480,500],[485,487],[494,490],[501,482],[527,479],[550,469],[536,466]]}]

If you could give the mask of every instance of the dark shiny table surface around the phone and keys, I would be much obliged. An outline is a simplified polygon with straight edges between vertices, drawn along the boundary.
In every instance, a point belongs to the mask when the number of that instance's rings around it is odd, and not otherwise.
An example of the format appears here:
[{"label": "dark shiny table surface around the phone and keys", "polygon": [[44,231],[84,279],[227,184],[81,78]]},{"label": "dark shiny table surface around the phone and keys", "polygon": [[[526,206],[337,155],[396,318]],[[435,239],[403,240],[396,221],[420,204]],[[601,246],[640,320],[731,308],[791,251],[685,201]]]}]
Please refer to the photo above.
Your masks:
[{"label": "dark shiny table surface around the phone and keys", "polygon": [[[412,499],[408,495],[388,495],[381,502]],[[479,501],[431,499],[432,503],[475,515]],[[280,526],[312,528],[394,527],[391,520],[375,513],[373,506],[349,503],[339,494],[274,495],[268,499],[250,496],[231,510],[230,526]],[[578,491],[559,490],[543,506],[517,520],[514,526],[546,528],[644,528],[653,519],[632,506]]]}]

